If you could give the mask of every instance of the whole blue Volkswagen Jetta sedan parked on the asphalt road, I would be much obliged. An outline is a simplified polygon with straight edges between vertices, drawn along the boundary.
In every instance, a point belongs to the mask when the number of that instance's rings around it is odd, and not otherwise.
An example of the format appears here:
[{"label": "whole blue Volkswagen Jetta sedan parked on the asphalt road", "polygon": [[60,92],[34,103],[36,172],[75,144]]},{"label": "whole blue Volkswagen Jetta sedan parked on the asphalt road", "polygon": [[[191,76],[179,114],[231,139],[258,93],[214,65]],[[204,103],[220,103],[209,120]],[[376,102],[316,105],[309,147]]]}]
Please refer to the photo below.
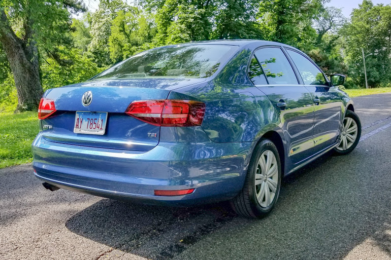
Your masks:
[{"label": "whole blue Volkswagen Jetta sedan parked on the asphalt road", "polygon": [[155,48],[47,90],[32,144],[45,188],[269,213],[281,179],[361,136],[353,102],[303,52],[242,40]]}]

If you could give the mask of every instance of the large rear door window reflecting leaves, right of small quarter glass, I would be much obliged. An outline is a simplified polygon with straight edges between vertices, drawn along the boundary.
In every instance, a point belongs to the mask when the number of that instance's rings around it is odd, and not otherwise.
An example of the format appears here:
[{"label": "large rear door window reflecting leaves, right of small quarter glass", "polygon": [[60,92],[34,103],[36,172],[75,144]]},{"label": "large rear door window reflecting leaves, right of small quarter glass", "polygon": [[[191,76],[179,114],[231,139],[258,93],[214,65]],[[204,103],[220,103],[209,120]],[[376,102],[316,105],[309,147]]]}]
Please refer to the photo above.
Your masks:
[{"label": "large rear door window reflecting leaves, right of small quarter glass", "polygon": [[298,84],[295,72],[280,48],[263,48],[255,57],[264,69],[269,84]]}]

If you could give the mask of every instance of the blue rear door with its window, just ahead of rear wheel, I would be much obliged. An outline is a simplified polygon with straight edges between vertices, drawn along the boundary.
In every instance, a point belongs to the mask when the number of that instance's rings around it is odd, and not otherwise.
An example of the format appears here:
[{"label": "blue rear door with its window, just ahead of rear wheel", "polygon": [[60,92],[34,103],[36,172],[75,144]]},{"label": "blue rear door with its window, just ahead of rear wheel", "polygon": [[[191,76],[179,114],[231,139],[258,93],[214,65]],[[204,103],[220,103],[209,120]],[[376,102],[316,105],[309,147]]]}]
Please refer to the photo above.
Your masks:
[{"label": "blue rear door with its window, just ahead of rear wheel", "polygon": [[[261,70],[254,72],[256,69],[252,68],[251,64],[256,61]],[[279,112],[292,163],[311,156],[314,153],[312,97],[310,92],[299,84],[283,50],[280,47],[256,50],[250,62],[249,77]]]}]

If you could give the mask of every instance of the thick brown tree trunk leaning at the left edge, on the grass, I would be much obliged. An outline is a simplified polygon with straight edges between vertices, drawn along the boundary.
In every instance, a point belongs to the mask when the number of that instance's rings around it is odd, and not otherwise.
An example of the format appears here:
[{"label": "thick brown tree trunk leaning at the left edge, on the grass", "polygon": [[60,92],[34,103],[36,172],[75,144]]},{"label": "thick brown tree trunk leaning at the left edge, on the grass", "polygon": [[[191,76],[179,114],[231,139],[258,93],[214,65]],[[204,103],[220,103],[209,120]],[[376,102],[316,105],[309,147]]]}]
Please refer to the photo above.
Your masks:
[{"label": "thick brown tree trunk leaning at the left edge, on the grass", "polygon": [[7,55],[14,75],[18,94],[15,112],[37,110],[43,89],[39,77],[38,50],[35,41],[26,39],[28,44],[16,36],[4,9],[0,9],[0,43]]}]

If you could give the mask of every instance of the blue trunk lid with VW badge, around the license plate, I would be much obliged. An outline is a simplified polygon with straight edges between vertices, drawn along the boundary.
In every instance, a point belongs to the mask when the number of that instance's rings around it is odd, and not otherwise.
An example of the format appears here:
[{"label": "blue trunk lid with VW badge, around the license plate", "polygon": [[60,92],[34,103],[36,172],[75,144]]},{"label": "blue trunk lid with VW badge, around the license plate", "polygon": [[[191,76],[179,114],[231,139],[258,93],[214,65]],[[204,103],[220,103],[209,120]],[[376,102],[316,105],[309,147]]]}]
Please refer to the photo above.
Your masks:
[{"label": "blue trunk lid with VW badge, around the license plate", "polygon": [[[41,120],[43,137],[52,142],[132,151],[149,151],[159,142],[160,127],[130,117],[124,112],[135,100],[167,99],[171,90],[205,79],[107,80],[48,90],[56,113]],[[82,103],[90,91],[92,101]],[[104,134],[75,133],[76,112],[107,113]],[[79,113],[80,114],[80,113]]]}]

